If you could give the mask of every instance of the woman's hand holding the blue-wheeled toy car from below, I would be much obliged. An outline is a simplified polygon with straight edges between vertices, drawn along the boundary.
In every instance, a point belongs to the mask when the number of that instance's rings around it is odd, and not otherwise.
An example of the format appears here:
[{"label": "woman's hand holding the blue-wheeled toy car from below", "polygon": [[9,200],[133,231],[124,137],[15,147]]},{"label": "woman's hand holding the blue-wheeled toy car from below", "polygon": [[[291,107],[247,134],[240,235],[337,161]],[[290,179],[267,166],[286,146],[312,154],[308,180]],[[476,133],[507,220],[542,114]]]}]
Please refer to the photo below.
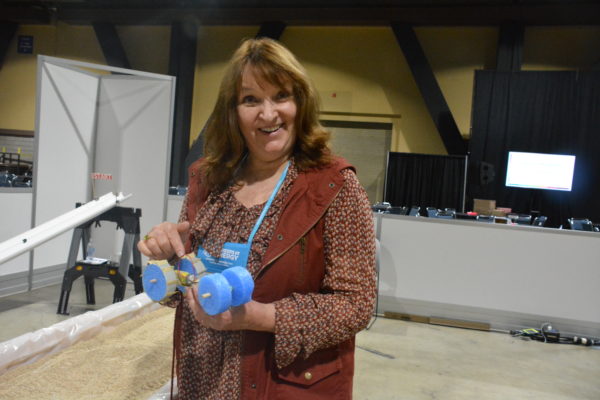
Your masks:
[{"label": "woman's hand holding the blue-wheeled toy car from below", "polygon": [[198,302],[197,286],[188,288],[185,301],[203,326],[218,331],[254,330],[275,332],[275,306],[250,300],[217,315],[208,315]]}]

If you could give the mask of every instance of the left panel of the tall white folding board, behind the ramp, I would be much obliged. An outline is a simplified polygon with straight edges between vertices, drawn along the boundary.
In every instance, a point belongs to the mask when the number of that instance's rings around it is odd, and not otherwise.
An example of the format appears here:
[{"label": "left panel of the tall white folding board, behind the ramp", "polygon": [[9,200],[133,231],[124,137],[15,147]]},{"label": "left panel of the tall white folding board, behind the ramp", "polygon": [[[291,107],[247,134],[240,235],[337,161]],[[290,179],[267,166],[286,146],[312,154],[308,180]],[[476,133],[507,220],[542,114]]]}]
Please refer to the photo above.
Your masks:
[{"label": "left panel of the tall white folding board, behind the ramp", "polygon": [[[98,78],[43,61],[38,64],[34,225],[90,200]],[[34,251],[34,269],[65,263],[71,232]]]}]

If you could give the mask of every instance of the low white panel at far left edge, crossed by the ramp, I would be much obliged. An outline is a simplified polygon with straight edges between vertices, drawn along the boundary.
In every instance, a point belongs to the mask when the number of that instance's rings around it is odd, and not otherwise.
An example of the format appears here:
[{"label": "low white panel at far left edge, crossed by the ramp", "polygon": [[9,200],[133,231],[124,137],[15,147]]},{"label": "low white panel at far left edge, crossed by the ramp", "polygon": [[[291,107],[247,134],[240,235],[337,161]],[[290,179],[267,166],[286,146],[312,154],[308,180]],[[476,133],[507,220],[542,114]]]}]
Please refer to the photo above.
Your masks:
[{"label": "low white panel at far left edge, crossed by the ramp", "polygon": [[[11,239],[31,228],[32,193],[0,192],[0,242]],[[29,270],[29,253],[0,264],[0,276]]]}]

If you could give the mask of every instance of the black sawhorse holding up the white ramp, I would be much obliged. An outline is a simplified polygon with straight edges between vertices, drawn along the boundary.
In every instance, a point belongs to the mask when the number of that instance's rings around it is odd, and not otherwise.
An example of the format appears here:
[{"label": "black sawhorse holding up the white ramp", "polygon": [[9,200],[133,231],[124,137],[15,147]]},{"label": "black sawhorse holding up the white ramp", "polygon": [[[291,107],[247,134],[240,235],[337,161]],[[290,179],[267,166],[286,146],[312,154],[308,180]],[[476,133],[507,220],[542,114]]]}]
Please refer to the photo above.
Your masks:
[{"label": "black sawhorse holding up the white ramp", "polygon": [[[77,203],[77,207],[80,205],[81,203]],[[71,247],[69,249],[69,258],[67,260],[67,270],[63,276],[60,300],[58,301],[57,314],[69,314],[67,312],[67,306],[69,304],[69,294],[71,293],[73,281],[82,275],[85,279],[87,304],[96,304],[94,279],[99,277],[110,279],[114,285],[113,303],[122,301],[125,297],[128,276],[133,281],[136,294],[139,294],[144,290],[141,278],[142,257],[136,247],[136,243],[140,240],[141,216],[142,210],[139,208],[114,207],[74,229]],[[122,228],[125,231],[121,258],[118,263],[110,261],[97,263],[87,259],[87,245],[90,240],[91,226],[100,221],[116,222],[117,229]],[[77,261],[80,243],[85,260]],[[131,259],[132,254],[133,264],[130,265],[129,260]]]}]

